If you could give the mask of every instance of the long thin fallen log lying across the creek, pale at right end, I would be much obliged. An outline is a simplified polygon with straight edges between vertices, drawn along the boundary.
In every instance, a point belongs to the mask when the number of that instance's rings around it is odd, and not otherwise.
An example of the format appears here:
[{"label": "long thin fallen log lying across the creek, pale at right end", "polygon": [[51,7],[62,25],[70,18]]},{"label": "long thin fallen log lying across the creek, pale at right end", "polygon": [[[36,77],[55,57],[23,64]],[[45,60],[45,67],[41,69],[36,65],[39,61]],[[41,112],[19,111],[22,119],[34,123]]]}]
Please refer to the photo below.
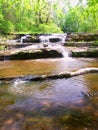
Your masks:
[{"label": "long thin fallen log lying across the creek, pale at right end", "polygon": [[84,69],[79,69],[74,72],[67,72],[63,71],[58,74],[52,74],[52,75],[40,75],[40,76],[19,76],[19,77],[6,77],[6,78],[0,78],[1,82],[10,82],[10,81],[16,81],[17,79],[23,80],[23,81],[43,81],[47,79],[68,79],[71,77],[79,76],[79,75],[84,75],[88,73],[98,73],[98,68],[84,68]]}]

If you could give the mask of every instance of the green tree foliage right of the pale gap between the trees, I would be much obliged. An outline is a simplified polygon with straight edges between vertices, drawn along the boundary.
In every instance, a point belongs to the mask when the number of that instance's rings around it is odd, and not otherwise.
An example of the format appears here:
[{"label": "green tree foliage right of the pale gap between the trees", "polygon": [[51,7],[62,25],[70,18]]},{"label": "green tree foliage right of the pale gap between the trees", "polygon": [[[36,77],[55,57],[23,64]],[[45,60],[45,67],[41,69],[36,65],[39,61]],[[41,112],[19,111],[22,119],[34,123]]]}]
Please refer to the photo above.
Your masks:
[{"label": "green tree foliage right of the pale gap between the trees", "polygon": [[98,2],[88,0],[87,5],[79,3],[71,7],[65,14],[65,22],[61,28],[65,32],[97,32],[98,31]]}]

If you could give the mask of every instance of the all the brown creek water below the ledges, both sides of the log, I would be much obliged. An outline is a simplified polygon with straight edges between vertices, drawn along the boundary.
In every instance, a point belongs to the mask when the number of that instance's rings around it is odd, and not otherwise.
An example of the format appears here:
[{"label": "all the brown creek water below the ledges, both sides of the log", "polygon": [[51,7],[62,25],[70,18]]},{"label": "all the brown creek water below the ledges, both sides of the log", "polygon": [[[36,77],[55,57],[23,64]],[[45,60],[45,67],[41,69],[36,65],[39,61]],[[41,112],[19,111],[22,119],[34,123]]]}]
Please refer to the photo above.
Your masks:
[{"label": "all the brown creek water below the ledges, both sides of the log", "polygon": [[[98,67],[98,59],[1,61],[0,77],[49,75],[85,67]],[[98,130],[98,74],[1,82],[0,130]]]}]

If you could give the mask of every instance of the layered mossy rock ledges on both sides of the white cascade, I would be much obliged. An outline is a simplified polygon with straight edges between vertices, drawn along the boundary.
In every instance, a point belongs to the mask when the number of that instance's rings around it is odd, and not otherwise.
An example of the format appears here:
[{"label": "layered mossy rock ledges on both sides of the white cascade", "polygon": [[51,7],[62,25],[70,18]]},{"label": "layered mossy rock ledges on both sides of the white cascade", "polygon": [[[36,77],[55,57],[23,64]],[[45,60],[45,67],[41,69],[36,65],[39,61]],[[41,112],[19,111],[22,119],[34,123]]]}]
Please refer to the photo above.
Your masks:
[{"label": "layered mossy rock ledges on both sides of the white cascade", "polygon": [[[58,50],[54,49],[55,47],[39,47],[35,50],[30,49],[30,47],[29,49],[26,48],[27,46],[31,46],[32,48],[32,44],[38,46],[38,44],[40,43],[40,37],[42,35],[12,34],[9,36],[9,40],[6,39],[8,38],[8,35],[6,38],[1,38],[0,40],[0,60],[63,57],[61,51],[59,52]],[[70,52],[70,56],[72,57],[98,57],[98,34],[68,33],[66,35],[47,34],[44,36],[46,39],[49,38],[48,42],[52,42],[54,46],[57,43],[65,46],[66,50],[68,49],[68,51]],[[62,44],[60,40],[63,36],[66,36],[66,39],[63,41]],[[23,43],[21,43],[21,41]]]}]

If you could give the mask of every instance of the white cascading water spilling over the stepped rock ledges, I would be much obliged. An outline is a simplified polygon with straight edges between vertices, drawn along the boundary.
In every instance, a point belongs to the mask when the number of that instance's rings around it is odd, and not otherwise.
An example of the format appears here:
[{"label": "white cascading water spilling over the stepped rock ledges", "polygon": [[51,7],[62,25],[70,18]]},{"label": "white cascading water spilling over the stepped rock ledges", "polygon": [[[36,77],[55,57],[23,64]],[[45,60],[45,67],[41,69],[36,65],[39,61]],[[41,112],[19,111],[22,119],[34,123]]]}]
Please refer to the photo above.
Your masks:
[{"label": "white cascading water spilling over the stepped rock ledges", "polygon": [[[21,43],[24,42],[26,38],[30,37],[30,35],[25,35],[21,37]],[[67,34],[52,34],[52,35],[40,35],[39,40],[40,40],[40,45],[32,45],[30,48],[32,49],[41,49],[41,48],[46,48],[50,50],[57,50],[60,52],[63,57],[68,58],[69,57],[69,52],[66,51],[65,47],[63,46],[65,41],[66,41]],[[50,42],[50,39],[58,39],[57,43],[52,43]],[[29,46],[28,46],[29,47]]]}]

